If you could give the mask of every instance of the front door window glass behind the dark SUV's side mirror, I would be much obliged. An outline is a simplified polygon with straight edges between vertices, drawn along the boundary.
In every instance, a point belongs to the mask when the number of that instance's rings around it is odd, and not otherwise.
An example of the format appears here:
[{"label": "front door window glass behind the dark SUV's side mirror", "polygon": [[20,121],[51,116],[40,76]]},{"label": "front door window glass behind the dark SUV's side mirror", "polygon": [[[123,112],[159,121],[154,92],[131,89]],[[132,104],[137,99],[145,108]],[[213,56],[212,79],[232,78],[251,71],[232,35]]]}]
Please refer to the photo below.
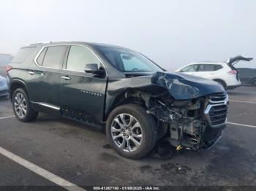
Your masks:
[{"label": "front door window glass behind the dark SUV's side mirror", "polygon": [[88,48],[82,46],[70,47],[69,56],[67,58],[68,70],[83,71],[83,69],[86,68],[86,64],[90,63],[97,63],[98,69],[102,67],[99,59]]}]

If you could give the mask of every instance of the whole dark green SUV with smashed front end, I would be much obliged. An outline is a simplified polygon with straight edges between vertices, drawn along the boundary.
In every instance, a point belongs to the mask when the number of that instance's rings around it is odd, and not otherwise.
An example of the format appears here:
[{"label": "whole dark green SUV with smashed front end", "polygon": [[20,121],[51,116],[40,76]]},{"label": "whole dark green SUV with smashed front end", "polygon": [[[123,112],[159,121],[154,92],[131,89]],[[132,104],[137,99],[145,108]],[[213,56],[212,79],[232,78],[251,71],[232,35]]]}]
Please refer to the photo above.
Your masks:
[{"label": "whole dark green SUV with smashed front end", "polygon": [[217,82],[167,73],[124,47],[31,44],[20,48],[7,71],[18,120],[47,112],[105,128],[125,157],[143,157],[159,139],[177,149],[211,148],[227,120],[227,93]]}]

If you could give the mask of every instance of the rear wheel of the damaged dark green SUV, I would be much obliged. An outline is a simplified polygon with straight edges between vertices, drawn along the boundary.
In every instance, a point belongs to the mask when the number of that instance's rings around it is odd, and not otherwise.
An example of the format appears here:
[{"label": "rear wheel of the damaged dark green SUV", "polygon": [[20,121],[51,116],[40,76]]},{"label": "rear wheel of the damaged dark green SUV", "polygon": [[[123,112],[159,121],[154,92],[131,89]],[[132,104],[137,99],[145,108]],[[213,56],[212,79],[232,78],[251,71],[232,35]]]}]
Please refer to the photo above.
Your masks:
[{"label": "rear wheel of the damaged dark green SUV", "polygon": [[26,95],[26,91],[23,88],[16,89],[12,94],[12,109],[21,122],[34,120],[38,115],[38,112],[31,108],[28,95]]}]

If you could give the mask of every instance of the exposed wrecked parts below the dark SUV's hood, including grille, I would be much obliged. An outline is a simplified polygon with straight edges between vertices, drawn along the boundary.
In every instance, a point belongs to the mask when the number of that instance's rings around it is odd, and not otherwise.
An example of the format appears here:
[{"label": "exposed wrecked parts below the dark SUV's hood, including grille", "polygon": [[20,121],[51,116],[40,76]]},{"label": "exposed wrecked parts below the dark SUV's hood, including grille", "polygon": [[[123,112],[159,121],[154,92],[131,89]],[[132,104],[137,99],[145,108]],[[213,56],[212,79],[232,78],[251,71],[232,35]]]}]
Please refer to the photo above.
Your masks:
[{"label": "exposed wrecked parts below the dark SUV's hood, including grille", "polygon": [[168,138],[174,147],[209,149],[221,138],[225,128],[227,93],[211,94],[189,101],[170,101],[165,96],[155,98],[148,114],[167,123],[165,139]]}]

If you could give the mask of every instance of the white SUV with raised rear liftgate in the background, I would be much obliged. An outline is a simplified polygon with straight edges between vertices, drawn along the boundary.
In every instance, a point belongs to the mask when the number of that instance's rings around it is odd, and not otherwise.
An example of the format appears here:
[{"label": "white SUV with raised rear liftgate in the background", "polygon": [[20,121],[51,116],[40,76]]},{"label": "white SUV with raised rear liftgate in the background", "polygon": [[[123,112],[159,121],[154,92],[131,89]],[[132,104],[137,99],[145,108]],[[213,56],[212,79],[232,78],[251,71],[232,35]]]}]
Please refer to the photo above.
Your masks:
[{"label": "white SUV with raised rear liftgate in the background", "polygon": [[221,84],[222,87],[225,88],[225,90],[234,89],[241,85],[241,81],[239,79],[239,72],[234,67],[234,65],[238,61],[252,61],[252,58],[245,58],[244,56],[238,55],[222,63],[189,63],[187,66],[176,70],[176,72],[184,72],[193,76],[212,79],[216,82],[219,82],[219,84]]}]

